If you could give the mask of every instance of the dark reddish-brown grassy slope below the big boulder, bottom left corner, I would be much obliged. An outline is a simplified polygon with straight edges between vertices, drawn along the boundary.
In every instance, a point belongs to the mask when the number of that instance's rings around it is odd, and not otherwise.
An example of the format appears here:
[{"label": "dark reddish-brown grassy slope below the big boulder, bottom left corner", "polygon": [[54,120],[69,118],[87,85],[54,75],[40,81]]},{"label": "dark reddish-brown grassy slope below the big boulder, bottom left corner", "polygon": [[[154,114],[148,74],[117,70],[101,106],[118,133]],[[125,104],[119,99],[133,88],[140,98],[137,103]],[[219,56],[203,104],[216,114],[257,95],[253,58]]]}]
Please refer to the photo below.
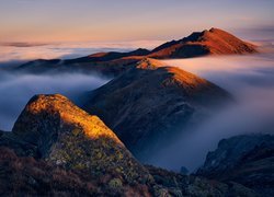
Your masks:
[{"label": "dark reddish-brown grassy slope below the big boulder, bottom left corner", "polygon": [[94,176],[83,170],[64,166],[32,157],[18,157],[0,148],[1,196],[151,196],[145,184],[125,184],[114,173]]}]

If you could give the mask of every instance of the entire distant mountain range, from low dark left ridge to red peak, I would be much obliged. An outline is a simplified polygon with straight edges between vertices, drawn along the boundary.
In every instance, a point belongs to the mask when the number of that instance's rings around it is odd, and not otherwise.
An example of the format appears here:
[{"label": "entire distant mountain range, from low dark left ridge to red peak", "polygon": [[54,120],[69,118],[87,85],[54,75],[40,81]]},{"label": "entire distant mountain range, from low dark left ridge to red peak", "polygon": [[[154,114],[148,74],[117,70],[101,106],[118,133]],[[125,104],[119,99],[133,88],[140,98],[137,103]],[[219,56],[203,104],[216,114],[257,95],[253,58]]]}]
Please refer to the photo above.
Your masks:
[{"label": "entire distant mountain range, from low dark left ridge to red peak", "polygon": [[37,59],[12,68],[16,71],[35,73],[83,71],[104,76],[117,76],[133,63],[144,58],[178,59],[208,55],[243,55],[258,53],[256,46],[243,42],[236,36],[219,30],[195,32],[179,40],[164,43],[152,50],[136,49],[129,53],[98,53],[76,59]]}]

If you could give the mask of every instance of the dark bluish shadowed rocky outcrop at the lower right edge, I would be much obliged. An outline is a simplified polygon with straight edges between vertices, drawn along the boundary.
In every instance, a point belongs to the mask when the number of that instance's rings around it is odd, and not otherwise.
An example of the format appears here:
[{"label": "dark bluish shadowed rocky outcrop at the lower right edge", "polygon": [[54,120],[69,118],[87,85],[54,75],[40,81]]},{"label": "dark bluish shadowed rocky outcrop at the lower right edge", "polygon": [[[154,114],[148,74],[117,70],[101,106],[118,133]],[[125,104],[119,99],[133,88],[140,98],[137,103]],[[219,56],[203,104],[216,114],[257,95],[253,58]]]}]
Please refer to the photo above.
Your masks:
[{"label": "dark bluish shadowed rocky outcrop at the lower right edge", "polygon": [[233,181],[263,196],[273,196],[274,136],[243,135],[224,139],[207,154],[196,174],[221,182]]}]

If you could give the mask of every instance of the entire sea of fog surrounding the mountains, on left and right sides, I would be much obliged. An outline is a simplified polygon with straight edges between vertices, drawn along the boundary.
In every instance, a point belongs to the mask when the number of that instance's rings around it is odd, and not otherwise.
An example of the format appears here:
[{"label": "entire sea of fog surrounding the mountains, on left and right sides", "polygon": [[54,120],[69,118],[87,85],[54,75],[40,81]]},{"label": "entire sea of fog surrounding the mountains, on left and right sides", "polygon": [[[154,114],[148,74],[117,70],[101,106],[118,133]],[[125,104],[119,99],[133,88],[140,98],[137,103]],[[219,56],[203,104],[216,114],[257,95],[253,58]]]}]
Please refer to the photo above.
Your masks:
[{"label": "entire sea of fog surrounding the mountains, on left and right sides", "polygon": [[[144,45],[144,44],[142,44]],[[134,47],[134,46],[132,46]],[[104,50],[129,50],[129,46],[5,46],[0,62],[35,58],[72,58]],[[132,48],[130,48],[132,49]],[[193,72],[229,91],[237,103],[208,119],[197,129],[159,150],[149,163],[179,171],[195,171],[222,138],[240,134],[274,132],[274,50],[259,55],[203,57],[164,60],[170,66]],[[0,63],[1,65],[1,63]],[[60,93],[69,99],[94,90],[110,79],[80,73],[59,76],[14,74],[0,71],[0,129],[11,130],[15,119],[34,94]],[[186,135],[187,134],[187,135]]]}]

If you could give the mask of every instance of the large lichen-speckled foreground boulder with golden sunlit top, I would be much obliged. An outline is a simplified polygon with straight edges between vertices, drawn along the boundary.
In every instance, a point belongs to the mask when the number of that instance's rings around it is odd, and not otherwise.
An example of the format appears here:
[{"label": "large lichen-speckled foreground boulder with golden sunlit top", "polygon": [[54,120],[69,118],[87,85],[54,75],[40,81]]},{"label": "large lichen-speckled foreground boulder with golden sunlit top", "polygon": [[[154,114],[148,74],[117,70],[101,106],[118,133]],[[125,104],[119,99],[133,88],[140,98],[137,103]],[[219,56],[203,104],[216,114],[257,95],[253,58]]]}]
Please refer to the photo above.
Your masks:
[{"label": "large lichen-speckled foreground boulder with golden sunlit top", "polygon": [[146,183],[147,171],[96,116],[62,95],[36,95],[19,116],[12,132],[37,148],[41,159],[92,174],[115,174],[127,183]]}]

